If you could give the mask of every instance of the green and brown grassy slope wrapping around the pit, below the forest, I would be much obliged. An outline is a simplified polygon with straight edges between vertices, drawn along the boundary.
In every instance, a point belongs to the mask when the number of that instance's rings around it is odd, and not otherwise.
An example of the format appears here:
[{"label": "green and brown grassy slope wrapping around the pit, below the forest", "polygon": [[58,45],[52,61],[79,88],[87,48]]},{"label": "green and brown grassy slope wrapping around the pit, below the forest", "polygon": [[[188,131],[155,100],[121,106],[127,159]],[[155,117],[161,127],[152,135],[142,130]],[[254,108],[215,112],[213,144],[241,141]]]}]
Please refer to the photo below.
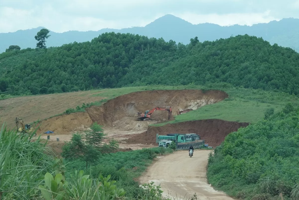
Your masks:
[{"label": "green and brown grassy slope wrapping around the pit, below the forest", "polygon": [[[117,96],[144,90],[182,90],[182,89],[216,89],[228,93],[229,98],[216,104],[206,105],[189,113],[176,116],[175,120],[166,123],[178,123],[200,119],[222,119],[227,121],[257,122],[262,119],[267,108],[280,110],[286,103],[292,102],[298,105],[298,97],[286,93],[278,93],[264,90],[253,90],[245,88],[235,88],[222,85],[209,86],[142,86],[142,87],[122,87],[114,89],[89,90],[72,93],[59,93],[36,96],[22,96],[1,100],[0,119],[5,120],[7,125],[14,126],[13,118],[15,113],[23,120],[33,122],[38,119],[46,119],[63,113],[68,108],[82,106],[84,102],[87,106],[101,105],[108,99]],[[56,104],[54,103],[56,102]],[[60,102],[60,103],[57,103]],[[18,105],[20,104],[20,105]],[[30,110],[25,110],[30,107]],[[26,108],[26,109],[25,109]],[[84,111],[84,110],[80,110]],[[11,119],[8,116],[12,117]],[[166,123],[153,124],[162,126]]]}]

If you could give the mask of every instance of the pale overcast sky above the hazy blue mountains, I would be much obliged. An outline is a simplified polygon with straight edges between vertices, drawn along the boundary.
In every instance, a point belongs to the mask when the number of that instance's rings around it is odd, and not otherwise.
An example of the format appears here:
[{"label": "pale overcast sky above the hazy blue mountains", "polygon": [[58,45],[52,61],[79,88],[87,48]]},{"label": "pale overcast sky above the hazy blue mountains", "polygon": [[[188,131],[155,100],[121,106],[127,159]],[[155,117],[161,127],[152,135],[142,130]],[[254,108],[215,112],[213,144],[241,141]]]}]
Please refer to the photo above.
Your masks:
[{"label": "pale overcast sky above the hazy blue mountains", "polygon": [[166,14],[222,26],[299,18],[299,0],[0,0],[0,33],[145,26]]}]

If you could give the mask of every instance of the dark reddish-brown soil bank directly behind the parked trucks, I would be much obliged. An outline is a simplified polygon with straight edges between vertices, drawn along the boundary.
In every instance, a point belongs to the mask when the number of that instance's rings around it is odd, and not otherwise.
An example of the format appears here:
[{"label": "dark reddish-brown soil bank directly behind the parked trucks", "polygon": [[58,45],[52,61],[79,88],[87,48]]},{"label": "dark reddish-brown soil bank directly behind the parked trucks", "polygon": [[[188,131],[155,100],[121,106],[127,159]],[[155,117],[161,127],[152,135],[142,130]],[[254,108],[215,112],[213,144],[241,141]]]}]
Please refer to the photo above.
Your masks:
[{"label": "dark reddish-brown soil bank directly behind the parked trucks", "polygon": [[129,144],[156,144],[156,134],[167,135],[169,133],[196,133],[205,140],[211,147],[216,147],[224,141],[225,137],[240,127],[246,127],[248,123],[234,121],[224,121],[220,119],[206,119],[198,121],[186,121],[176,124],[166,124],[164,126],[149,126],[147,131],[135,134],[126,141]]}]

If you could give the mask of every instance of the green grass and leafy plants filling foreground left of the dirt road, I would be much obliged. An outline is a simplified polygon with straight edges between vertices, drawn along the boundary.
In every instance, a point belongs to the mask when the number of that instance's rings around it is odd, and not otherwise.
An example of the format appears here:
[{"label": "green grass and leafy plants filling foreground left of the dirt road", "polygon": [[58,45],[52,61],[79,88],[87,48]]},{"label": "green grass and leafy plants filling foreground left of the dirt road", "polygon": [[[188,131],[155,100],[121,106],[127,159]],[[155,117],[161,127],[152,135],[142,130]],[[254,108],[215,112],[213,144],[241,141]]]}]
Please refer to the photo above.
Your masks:
[{"label": "green grass and leafy plants filling foreground left of the dirt road", "polygon": [[[93,124],[88,134],[96,136],[99,128]],[[170,148],[108,153],[107,146],[103,145],[100,149],[104,152],[90,160],[86,170],[82,158],[94,155],[68,156],[68,159],[53,157],[53,152],[40,137],[32,141],[32,135],[17,134],[7,130],[4,124],[0,130],[1,200],[166,200],[161,195],[161,187],[153,182],[140,187],[134,179],[157,155],[172,153]],[[91,137],[94,141],[91,148],[98,150],[95,141],[100,141],[102,136],[100,133],[98,137]],[[77,144],[71,140],[64,149],[65,154],[69,153],[70,145],[74,147],[72,142]]]}]

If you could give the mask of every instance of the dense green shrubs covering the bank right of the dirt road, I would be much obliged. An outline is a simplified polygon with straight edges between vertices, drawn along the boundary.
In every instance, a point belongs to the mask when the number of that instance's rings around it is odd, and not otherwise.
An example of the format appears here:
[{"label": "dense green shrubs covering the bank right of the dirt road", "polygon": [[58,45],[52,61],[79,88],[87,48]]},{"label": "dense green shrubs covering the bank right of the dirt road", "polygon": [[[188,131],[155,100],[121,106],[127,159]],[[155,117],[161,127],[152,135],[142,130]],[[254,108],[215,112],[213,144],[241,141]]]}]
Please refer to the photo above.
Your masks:
[{"label": "dense green shrubs covering the bank right of the dirt road", "polygon": [[[279,113],[230,133],[209,156],[208,180],[241,199],[299,199],[299,109]],[[277,199],[274,198],[273,199]]]}]

